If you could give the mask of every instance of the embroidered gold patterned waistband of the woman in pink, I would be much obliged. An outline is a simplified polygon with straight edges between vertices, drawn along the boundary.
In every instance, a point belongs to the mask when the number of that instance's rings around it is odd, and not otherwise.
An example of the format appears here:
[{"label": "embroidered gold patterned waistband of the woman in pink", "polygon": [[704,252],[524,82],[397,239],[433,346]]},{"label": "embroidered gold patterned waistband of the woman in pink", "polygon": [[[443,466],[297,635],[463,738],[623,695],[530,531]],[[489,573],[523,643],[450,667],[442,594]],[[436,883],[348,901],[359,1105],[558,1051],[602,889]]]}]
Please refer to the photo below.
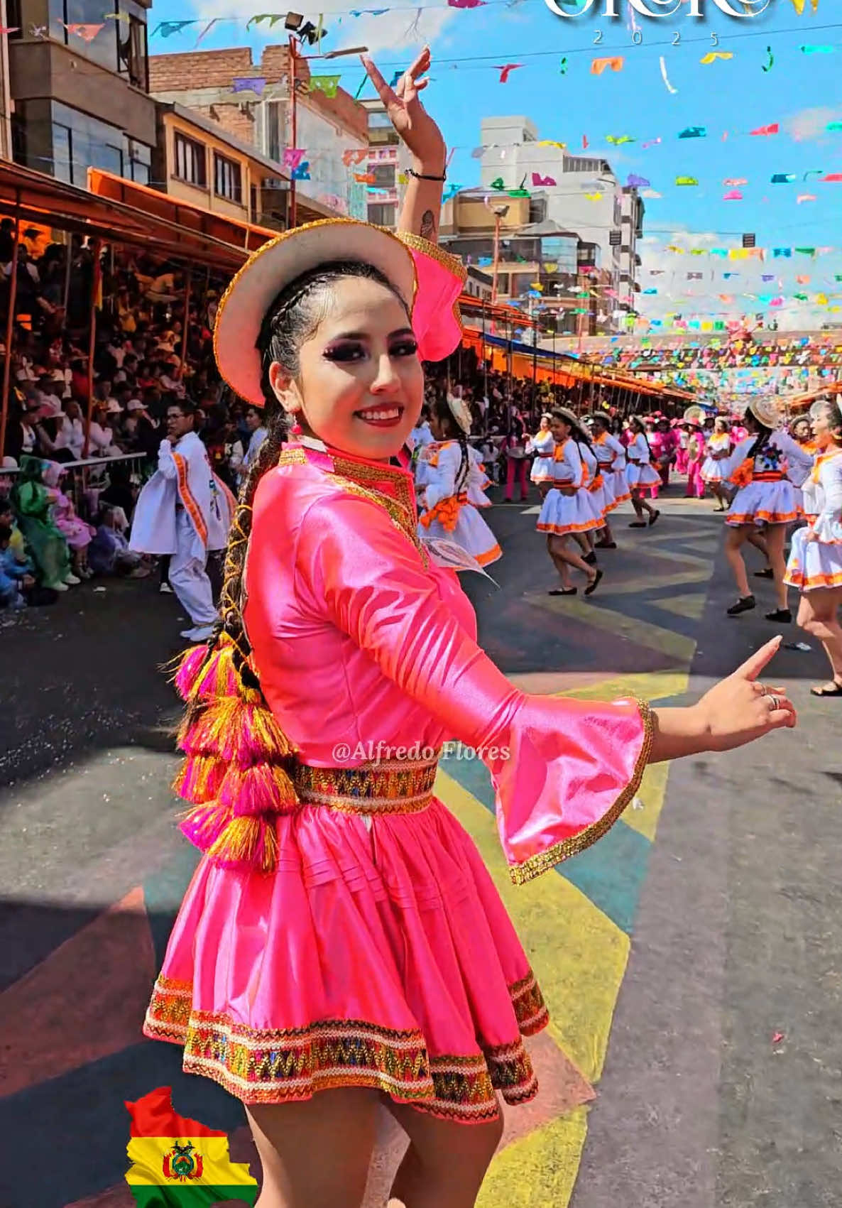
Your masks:
[{"label": "embroidered gold patterned waistband of the woman in pink", "polygon": [[395,759],[358,767],[296,763],[294,783],[302,805],[353,814],[408,814],[429,806],[437,767],[439,753],[428,760]]}]

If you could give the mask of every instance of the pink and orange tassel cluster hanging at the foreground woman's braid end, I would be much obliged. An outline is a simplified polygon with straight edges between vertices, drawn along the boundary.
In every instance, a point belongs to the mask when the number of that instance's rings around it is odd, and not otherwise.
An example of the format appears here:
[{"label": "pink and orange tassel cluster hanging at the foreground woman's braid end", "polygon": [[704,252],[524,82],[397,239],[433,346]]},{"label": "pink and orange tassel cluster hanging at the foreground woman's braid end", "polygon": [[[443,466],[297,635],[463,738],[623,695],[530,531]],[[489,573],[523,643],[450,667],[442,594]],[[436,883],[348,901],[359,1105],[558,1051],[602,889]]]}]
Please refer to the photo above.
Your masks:
[{"label": "pink and orange tassel cluster hanging at the foreground woman's braid end", "polygon": [[210,655],[194,646],[181,658],[174,683],[187,710],[178,744],[187,759],[174,788],[196,807],[182,834],[214,864],[272,872],[277,815],[300,803],[290,776],[295,751],[240,667],[225,633]]}]

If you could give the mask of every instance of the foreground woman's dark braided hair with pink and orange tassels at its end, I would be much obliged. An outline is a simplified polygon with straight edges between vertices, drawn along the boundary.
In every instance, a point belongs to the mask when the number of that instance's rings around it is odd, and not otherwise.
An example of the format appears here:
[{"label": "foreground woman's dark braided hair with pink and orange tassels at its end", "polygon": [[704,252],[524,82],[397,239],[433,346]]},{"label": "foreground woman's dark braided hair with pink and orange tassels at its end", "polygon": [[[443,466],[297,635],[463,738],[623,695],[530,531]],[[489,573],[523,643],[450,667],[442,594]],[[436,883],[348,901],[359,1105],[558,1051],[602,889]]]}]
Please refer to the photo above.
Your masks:
[{"label": "foreground woman's dark braided hair with pink and orange tassels at its end", "polygon": [[174,788],[193,806],[181,830],[222,866],[272,872],[278,864],[278,815],[298,806],[295,748],[261,692],[251,660],[243,623],[243,574],[255,493],[278,461],[285,435],[271,368],[280,365],[290,378],[297,378],[298,350],[319,325],[325,290],[343,277],[362,277],[391,289],[370,265],[331,262],[285,286],[263,320],[257,348],[265,403],[272,411],[268,432],[231,523],[219,622],[207,645],[185,654],[174,678],[187,704],[178,733],[187,757]]}]

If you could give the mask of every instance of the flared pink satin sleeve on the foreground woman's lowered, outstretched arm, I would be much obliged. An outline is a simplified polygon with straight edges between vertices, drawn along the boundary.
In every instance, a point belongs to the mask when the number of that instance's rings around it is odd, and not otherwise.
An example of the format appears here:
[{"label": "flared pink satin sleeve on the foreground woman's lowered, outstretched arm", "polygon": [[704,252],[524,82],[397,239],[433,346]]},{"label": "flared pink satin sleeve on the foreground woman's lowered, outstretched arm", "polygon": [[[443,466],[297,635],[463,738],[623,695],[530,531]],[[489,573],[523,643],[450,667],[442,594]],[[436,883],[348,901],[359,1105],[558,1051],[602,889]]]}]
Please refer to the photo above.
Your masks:
[{"label": "flared pink satin sleeve on the foreground woman's lowered, outstretched arm", "polygon": [[296,583],[447,734],[488,766],[512,881],[588,847],[633,798],[651,716],[638,701],[528,696],[459,625],[412,541],[377,504],[317,500],[302,518]]}]

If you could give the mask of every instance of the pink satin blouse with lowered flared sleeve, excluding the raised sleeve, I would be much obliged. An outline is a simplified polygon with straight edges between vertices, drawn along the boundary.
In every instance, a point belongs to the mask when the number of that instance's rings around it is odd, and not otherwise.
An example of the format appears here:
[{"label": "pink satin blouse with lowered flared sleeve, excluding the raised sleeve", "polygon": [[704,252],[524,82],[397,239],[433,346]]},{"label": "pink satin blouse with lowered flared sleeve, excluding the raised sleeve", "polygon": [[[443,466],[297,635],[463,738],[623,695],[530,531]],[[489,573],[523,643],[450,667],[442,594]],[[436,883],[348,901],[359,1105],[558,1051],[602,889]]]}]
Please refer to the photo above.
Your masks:
[{"label": "pink satin blouse with lowered flared sleeve, excluding the raised sleeve", "polygon": [[603,835],[632,800],[649,709],[528,696],[476,641],[457,575],[417,535],[412,477],[286,446],[254,503],[244,618],[261,686],[303,763],[359,744],[459,739],[488,765],[512,879]]}]

